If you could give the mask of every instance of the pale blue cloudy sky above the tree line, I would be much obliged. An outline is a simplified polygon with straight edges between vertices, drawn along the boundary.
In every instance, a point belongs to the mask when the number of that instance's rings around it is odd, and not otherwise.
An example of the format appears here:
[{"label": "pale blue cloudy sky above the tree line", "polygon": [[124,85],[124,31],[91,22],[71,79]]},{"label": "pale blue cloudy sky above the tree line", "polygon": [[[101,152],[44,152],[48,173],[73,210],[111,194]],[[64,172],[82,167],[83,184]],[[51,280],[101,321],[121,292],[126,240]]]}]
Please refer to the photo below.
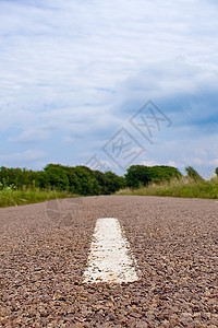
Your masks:
[{"label": "pale blue cloudy sky above the tree line", "polygon": [[0,0],[0,166],[218,166],[215,0]]}]

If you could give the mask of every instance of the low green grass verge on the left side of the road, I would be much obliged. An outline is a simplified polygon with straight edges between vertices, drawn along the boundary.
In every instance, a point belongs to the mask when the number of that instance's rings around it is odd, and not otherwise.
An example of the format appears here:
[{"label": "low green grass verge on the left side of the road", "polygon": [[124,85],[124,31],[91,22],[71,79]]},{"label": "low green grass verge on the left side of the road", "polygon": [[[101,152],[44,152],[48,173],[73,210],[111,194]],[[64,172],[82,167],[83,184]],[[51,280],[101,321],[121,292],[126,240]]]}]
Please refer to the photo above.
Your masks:
[{"label": "low green grass verge on the left side of the road", "polygon": [[68,191],[56,190],[13,190],[5,188],[0,190],[0,208],[23,206],[28,203],[43,202],[56,198],[71,198],[75,197]]}]

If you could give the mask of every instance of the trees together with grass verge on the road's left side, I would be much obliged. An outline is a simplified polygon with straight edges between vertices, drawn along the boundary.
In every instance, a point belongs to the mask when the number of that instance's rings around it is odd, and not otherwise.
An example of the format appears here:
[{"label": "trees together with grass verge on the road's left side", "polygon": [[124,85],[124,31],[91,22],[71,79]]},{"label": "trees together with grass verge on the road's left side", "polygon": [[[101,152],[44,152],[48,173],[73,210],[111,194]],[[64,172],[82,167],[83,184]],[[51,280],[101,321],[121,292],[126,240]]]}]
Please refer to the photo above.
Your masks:
[{"label": "trees together with grass verge on the road's left side", "polygon": [[44,171],[0,168],[0,208],[53,198],[110,195],[123,188],[124,178],[86,166],[48,164]]}]

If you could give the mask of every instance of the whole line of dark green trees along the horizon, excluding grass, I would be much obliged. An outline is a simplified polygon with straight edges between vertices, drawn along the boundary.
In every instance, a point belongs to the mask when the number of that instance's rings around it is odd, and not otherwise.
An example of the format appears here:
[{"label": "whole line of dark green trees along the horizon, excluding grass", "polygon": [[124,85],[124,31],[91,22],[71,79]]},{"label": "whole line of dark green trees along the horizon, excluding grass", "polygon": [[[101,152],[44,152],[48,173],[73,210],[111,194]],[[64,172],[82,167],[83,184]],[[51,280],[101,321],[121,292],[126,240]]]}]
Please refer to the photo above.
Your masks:
[{"label": "whole line of dark green trees along the horizon, excluding grass", "polygon": [[[193,167],[189,166],[185,169],[191,178],[202,178]],[[216,173],[218,175],[218,168],[216,168]],[[125,187],[138,188],[147,186],[152,181],[158,184],[181,177],[182,174],[178,168],[165,165],[132,165],[128,168],[124,177],[118,176],[111,171],[102,173],[83,165],[73,167],[48,164],[43,171],[2,166],[0,167],[0,188],[12,186],[14,189],[68,190],[83,196],[110,195]]]}]

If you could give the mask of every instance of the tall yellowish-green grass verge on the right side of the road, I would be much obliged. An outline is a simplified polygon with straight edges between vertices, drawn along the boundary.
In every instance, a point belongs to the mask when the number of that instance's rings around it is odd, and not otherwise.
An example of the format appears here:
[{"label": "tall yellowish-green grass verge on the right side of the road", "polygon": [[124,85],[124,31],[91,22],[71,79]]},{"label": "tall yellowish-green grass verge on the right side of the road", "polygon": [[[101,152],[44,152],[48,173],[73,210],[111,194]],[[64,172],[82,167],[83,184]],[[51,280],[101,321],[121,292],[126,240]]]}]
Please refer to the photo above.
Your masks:
[{"label": "tall yellowish-green grass verge on the right side of the road", "polygon": [[183,177],[161,184],[150,184],[138,189],[125,188],[117,195],[137,195],[137,196],[167,196],[183,198],[208,198],[218,199],[218,178],[211,180],[198,180]]}]

